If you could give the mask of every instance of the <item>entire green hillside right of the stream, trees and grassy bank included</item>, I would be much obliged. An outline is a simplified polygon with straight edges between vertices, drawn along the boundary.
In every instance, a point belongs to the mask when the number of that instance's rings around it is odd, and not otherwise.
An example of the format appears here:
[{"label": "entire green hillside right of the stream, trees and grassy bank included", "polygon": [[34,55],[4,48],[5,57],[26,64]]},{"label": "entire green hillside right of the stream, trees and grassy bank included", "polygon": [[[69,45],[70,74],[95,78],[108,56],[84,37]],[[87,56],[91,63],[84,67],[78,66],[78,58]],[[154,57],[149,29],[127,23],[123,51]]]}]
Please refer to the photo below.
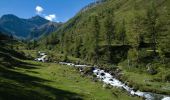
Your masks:
[{"label": "entire green hillside right of the stream, trees and grassy bank included", "polygon": [[[121,79],[134,88],[169,94],[169,18],[169,0],[105,0],[87,6],[40,43],[107,70],[118,65]],[[141,80],[134,80],[138,75]]]}]

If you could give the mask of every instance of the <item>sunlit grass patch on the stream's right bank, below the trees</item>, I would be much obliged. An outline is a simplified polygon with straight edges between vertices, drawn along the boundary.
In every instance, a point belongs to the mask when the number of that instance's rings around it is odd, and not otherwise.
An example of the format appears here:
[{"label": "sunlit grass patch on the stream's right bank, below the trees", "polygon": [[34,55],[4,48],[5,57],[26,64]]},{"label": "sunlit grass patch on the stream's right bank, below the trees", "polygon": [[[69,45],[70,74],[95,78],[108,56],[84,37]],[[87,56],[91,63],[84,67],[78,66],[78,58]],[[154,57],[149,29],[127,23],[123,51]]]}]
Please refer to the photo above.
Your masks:
[{"label": "sunlit grass patch on the stream's right bank, below the trees", "polygon": [[147,72],[129,71],[124,68],[122,80],[128,81],[130,86],[141,91],[170,95],[170,83],[162,79],[166,75],[165,72],[169,73],[169,68],[160,67],[156,75],[150,75]]}]

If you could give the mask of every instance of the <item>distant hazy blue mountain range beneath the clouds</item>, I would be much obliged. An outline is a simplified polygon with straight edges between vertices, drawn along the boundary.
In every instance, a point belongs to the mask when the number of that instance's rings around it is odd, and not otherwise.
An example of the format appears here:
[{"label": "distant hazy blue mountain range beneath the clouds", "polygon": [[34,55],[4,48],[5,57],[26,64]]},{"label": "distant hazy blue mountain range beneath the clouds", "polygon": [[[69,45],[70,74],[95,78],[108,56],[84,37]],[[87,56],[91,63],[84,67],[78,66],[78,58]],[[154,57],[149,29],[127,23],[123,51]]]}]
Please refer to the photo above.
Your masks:
[{"label": "distant hazy blue mountain range beneath the clouds", "polygon": [[[34,32],[34,29],[38,29],[39,31],[41,31],[41,27],[46,25],[46,28],[48,28],[49,23],[53,23],[55,27],[51,28],[51,26],[49,25],[50,31],[48,32],[52,32],[58,28],[58,23],[50,22],[40,16],[35,16],[30,19],[22,19],[15,15],[8,14],[3,15],[0,18],[0,29],[2,32],[5,31],[4,33],[14,35],[14,37],[27,39],[31,34],[37,33],[37,31]],[[38,35],[36,35],[36,37],[42,35],[41,33],[37,34]]]}]

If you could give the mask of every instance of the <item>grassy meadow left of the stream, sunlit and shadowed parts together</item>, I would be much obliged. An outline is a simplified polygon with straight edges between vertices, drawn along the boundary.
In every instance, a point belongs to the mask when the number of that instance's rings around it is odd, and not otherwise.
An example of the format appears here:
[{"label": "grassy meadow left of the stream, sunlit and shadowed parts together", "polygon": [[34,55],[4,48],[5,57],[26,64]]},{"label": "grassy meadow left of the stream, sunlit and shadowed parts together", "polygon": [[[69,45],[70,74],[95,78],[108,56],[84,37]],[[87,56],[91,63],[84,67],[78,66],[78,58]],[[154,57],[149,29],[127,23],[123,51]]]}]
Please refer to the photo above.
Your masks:
[{"label": "grassy meadow left of the stream, sunlit and shadowed parts together", "polygon": [[0,65],[0,100],[138,100],[122,90],[102,87],[71,67],[23,61]]}]

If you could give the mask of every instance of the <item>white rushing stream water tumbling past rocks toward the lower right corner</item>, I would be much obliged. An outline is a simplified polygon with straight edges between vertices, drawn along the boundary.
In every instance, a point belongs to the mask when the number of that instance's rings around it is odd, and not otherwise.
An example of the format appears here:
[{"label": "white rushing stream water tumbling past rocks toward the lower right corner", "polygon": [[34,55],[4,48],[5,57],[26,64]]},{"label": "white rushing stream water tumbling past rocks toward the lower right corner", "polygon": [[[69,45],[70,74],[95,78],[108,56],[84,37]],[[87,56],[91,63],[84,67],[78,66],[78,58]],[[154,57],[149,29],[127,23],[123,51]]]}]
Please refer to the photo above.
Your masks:
[{"label": "white rushing stream water tumbling past rocks toward the lower right corner", "polygon": [[[60,64],[73,66],[73,67],[86,67],[87,65],[75,65],[73,63],[66,63],[66,62],[60,62]],[[145,100],[170,100],[170,96],[168,95],[162,95],[162,94],[156,94],[152,92],[142,92],[142,91],[135,91],[133,88],[129,87],[125,83],[119,81],[114,76],[112,76],[110,73],[105,72],[104,70],[101,70],[99,68],[95,68],[93,70],[94,75],[97,76],[97,78],[100,81],[103,81],[104,84],[111,85],[113,87],[118,87],[126,90],[129,94],[134,96],[139,96],[145,98]]]}]

